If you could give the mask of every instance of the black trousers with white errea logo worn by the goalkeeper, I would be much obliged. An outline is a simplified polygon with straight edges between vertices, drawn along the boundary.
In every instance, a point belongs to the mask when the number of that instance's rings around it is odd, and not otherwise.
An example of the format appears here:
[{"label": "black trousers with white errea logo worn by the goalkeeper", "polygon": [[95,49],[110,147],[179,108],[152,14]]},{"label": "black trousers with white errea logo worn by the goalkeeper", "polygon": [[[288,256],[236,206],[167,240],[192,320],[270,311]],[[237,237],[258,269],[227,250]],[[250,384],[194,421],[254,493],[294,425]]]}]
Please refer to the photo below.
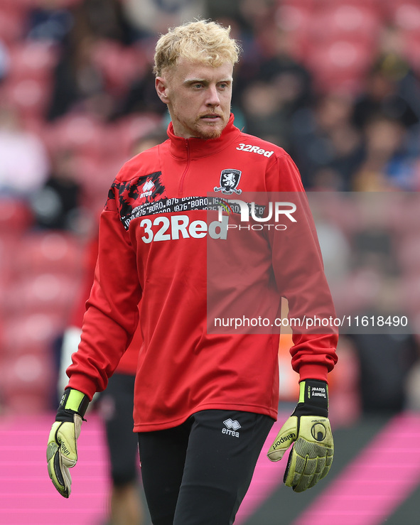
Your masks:
[{"label": "black trousers with white errea logo worn by the goalkeeper", "polygon": [[231,525],[274,419],[205,410],[139,433],[141,476],[154,525]]}]

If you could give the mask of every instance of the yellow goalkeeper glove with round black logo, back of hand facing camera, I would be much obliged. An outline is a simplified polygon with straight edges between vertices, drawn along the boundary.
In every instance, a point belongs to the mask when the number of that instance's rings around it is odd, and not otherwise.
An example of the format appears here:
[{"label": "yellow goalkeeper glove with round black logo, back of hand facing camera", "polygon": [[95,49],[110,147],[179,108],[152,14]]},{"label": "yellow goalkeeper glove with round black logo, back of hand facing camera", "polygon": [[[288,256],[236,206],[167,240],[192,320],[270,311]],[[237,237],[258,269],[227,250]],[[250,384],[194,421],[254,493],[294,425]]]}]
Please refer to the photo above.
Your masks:
[{"label": "yellow goalkeeper glove with round black logo, back of hand facing camera", "polygon": [[283,481],[295,492],[303,492],[325,477],[333,462],[334,443],[325,381],[301,381],[298,405],[269,448],[269,460],[281,460],[292,443]]}]

